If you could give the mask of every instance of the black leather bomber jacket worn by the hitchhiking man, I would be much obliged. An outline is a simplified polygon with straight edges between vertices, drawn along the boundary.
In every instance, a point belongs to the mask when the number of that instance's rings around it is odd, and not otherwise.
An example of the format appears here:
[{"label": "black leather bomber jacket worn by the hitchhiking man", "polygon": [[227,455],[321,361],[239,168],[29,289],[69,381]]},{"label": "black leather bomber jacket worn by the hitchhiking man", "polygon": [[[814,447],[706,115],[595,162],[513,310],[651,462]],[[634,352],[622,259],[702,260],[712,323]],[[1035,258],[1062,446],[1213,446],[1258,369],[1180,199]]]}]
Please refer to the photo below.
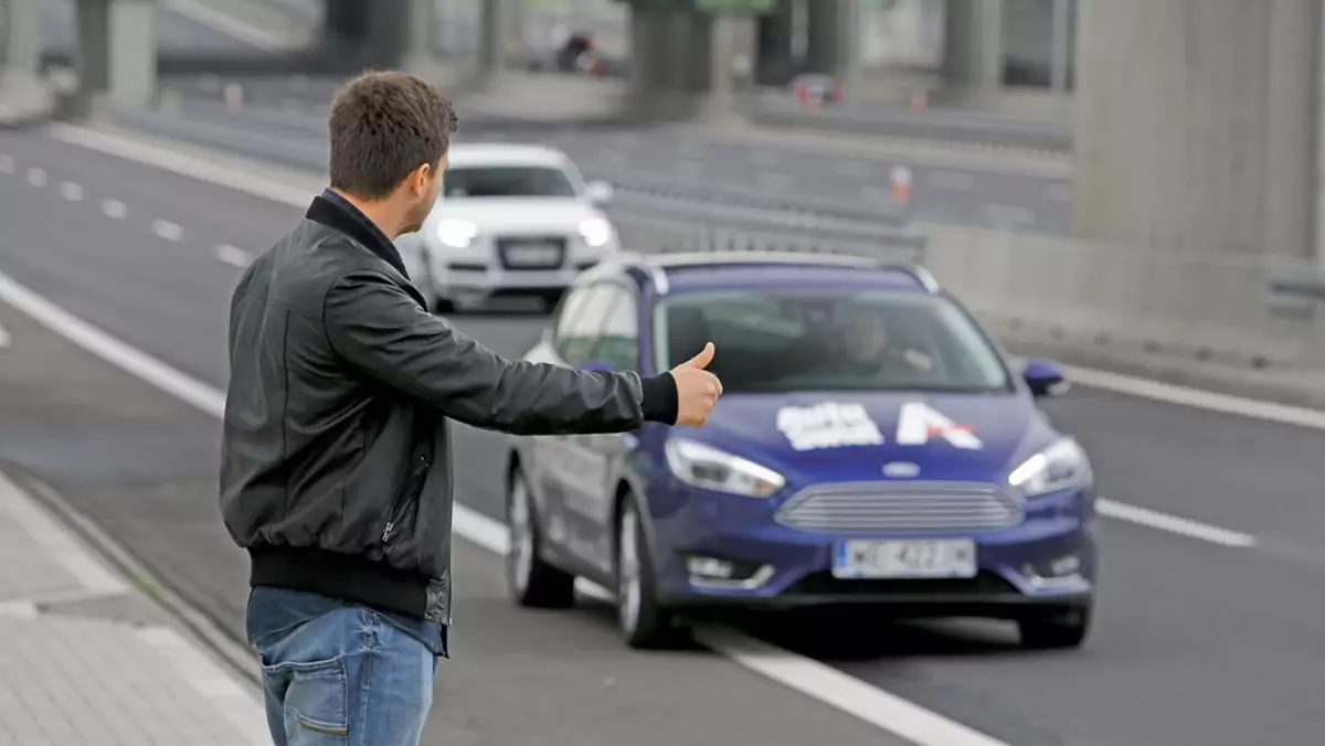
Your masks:
[{"label": "black leather bomber jacket worn by the hitchhiking man", "polygon": [[221,513],[250,583],[450,623],[448,419],[510,433],[676,421],[669,374],[511,362],[428,313],[358,209],[317,197],[245,272]]}]

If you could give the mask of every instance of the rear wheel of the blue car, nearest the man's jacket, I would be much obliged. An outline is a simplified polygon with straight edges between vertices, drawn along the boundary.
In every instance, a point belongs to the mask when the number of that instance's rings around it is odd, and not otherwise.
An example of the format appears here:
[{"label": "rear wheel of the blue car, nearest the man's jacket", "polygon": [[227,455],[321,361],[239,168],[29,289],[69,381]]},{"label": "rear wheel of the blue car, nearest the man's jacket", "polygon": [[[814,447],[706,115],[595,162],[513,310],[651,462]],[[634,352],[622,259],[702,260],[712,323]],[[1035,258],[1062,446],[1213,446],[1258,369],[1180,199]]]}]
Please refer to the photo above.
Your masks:
[{"label": "rear wheel of the blue car, nearest the man's jacket", "polygon": [[541,557],[542,534],[534,517],[529,481],[514,466],[506,486],[506,587],[517,606],[570,608],[575,606],[575,576]]}]

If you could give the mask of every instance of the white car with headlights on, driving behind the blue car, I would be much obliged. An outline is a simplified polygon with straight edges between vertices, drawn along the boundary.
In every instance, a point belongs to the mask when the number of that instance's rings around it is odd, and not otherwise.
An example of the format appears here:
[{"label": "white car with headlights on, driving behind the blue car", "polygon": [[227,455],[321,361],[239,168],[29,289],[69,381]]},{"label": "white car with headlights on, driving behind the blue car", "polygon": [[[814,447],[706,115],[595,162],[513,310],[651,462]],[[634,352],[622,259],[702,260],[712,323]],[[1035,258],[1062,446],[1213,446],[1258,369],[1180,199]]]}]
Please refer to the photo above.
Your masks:
[{"label": "white car with headlights on, driving behind the blue car", "polygon": [[437,313],[497,295],[551,307],[576,274],[620,249],[602,209],[611,197],[611,184],[586,183],[556,148],[456,144],[432,215],[396,248]]}]

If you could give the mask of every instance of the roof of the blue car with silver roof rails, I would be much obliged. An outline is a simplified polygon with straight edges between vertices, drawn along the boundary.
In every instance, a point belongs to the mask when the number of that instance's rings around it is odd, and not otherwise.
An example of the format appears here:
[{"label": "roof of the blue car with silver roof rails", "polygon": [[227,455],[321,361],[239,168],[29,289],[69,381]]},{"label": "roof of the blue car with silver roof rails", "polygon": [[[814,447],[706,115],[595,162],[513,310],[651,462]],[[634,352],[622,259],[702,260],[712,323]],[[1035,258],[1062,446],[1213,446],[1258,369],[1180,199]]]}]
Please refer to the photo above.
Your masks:
[{"label": "roof of the blue car with silver roof rails", "polygon": [[942,289],[924,266],[882,258],[808,252],[696,252],[621,254],[616,262],[586,273],[625,270],[659,294],[718,288],[853,286],[893,288],[917,293]]}]

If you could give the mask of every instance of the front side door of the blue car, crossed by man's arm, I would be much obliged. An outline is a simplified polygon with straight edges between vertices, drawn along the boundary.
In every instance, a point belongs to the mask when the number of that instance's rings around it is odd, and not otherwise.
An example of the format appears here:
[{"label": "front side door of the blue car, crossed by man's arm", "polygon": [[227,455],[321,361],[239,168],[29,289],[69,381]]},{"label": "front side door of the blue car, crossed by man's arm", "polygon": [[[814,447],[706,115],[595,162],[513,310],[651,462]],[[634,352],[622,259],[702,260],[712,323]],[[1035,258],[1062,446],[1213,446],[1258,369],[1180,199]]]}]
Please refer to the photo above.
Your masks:
[{"label": "front side door of the blue car, crossed by man's arm", "polygon": [[[592,359],[619,371],[640,370],[639,301],[633,288],[612,285],[607,317],[599,329]],[[584,543],[592,549],[586,559],[608,576],[612,571],[613,502],[625,457],[639,443],[639,433],[598,433],[576,436],[579,460],[584,464],[583,488],[576,494],[575,513]]]}]

